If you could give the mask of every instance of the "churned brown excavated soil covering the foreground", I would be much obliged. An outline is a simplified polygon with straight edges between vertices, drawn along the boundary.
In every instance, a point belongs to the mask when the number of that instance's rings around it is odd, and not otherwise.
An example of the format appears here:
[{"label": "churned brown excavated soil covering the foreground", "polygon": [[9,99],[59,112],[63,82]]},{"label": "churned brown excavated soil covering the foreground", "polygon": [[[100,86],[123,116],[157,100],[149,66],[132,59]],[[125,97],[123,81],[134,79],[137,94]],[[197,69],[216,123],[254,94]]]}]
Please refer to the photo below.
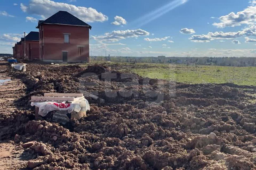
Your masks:
[{"label": "churned brown excavated soil covering the foreground", "polygon": [[[122,65],[0,67],[24,86],[7,102],[14,111],[0,102],[0,140],[24,148],[24,169],[256,169],[254,86],[142,78]],[[35,120],[31,96],[83,91],[99,97],[86,96],[87,117]]]}]

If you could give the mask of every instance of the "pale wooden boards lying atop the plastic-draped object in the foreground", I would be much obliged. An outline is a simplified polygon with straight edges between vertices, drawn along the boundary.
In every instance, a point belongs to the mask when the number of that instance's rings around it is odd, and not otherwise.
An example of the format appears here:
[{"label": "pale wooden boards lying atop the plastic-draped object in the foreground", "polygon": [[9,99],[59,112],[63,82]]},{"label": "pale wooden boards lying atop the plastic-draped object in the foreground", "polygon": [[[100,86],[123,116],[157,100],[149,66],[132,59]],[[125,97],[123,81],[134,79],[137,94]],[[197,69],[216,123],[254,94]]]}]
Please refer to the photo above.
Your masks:
[{"label": "pale wooden boards lying atop the plastic-draped object in the foreground", "polygon": [[83,94],[81,93],[45,93],[44,96],[31,96],[30,102],[45,102],[45,101],[56,101],[56,102],[73,102],[81,99]]}]

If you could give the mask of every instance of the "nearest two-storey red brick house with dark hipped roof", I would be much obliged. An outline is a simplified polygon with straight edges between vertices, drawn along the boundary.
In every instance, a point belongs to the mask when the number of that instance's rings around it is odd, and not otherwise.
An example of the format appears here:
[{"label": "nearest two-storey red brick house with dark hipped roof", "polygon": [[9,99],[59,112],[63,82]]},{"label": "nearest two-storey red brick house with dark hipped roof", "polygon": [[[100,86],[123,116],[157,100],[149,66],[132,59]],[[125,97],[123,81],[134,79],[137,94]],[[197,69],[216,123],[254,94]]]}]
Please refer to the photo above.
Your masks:
[{"label": "nearest two-storey red brick house with dark hipped roof", "polygon": [[66,11],[39,20],[39,54],[45,62],[89,62],[91,26]]}]

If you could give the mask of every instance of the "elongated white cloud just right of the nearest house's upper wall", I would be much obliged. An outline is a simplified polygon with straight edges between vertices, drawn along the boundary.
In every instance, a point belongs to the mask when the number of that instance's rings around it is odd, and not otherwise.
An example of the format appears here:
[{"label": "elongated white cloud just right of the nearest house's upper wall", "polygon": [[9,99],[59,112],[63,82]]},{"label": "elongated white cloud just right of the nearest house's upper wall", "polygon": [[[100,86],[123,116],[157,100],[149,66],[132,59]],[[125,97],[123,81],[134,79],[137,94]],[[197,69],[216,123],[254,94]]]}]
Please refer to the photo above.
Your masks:
[{"label": "elongated white cloud just right of the nearest house's upper wall", "polygon": [[118,30],[118,31],[112,31],[107,32],[104,35],[101,36],[91,36],[94,40],[102,42],[102,41],[108,41],[108,42],[116,42],[122,39],[130,38],[130,37],[139,37],[139,36],[147,36],[149,35],[149,32],[143,30],[143,29],[135,29],[135,30]]}]

